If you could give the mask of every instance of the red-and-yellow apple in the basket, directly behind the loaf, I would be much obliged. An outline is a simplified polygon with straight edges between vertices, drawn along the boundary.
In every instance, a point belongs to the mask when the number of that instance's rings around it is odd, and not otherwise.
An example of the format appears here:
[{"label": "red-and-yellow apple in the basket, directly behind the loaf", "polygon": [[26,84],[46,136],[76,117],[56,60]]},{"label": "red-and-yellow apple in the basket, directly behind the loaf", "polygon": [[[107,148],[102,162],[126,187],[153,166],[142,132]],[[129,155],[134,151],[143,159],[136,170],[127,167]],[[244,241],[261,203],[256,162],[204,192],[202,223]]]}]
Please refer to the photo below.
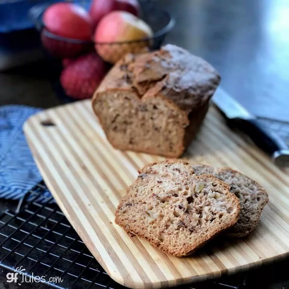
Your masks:
[{"label": "red-and-yellow apple in the basket, directly behind the loaf", "polygon": [[141,51],[151,44],[150,40],[131,41],[152,36],[151,27],[140,18],[126,11],[113,11],[101,19],[95,30],[95,49],[105,61],[116,63],[125,54]]}]

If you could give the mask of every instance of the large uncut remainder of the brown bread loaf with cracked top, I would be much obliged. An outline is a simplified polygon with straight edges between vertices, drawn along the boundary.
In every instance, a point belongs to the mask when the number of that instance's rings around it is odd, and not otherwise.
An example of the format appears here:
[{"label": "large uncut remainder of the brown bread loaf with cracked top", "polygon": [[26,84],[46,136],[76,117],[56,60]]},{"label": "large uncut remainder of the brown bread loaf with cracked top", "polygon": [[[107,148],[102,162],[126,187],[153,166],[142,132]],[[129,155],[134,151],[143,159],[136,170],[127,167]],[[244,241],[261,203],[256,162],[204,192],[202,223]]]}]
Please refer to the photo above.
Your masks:
[{"label": "large uncut remainder of the brown bread loaf with cracked top", "polygon": [[179,157],[219,82],[206,61],[166,45],[120,60],[95,92],[92,107],[115,148]]}]

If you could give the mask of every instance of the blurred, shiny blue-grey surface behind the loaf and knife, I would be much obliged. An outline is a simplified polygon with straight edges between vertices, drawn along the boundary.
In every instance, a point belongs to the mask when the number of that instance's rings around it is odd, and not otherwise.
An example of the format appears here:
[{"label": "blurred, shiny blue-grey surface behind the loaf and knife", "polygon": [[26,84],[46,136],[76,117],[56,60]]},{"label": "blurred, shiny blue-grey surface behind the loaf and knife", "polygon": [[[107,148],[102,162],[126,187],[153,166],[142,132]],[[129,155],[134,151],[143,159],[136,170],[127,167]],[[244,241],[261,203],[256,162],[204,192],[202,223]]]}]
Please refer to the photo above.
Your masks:
[{"label": "blurred, shiny blue-grey surface behind the loaf and knife", "polygon": [[161,0],[176,18],[168,42],[209,61],[252,113],[289,120],[289,2]]}]

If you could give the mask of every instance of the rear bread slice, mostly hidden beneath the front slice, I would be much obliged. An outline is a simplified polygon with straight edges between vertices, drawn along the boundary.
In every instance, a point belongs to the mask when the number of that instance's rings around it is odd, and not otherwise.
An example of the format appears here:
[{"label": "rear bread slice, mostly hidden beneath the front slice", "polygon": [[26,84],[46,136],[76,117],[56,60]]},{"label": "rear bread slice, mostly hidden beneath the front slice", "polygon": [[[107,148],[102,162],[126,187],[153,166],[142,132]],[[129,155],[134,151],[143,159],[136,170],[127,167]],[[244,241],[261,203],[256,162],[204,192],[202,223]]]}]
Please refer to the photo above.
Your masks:
[{"label": "rear bread slice, mostly hidden beneath the front slice", "polygon": [[240,200],[238,222],[227,231],[232,237],[245,237],[259,222],[262,210],[268,203],[268,194],[257,182],[230,168],[215,170],[206,165],[192,165],[196,175],[214,175],[230,186],[230,191]]}]

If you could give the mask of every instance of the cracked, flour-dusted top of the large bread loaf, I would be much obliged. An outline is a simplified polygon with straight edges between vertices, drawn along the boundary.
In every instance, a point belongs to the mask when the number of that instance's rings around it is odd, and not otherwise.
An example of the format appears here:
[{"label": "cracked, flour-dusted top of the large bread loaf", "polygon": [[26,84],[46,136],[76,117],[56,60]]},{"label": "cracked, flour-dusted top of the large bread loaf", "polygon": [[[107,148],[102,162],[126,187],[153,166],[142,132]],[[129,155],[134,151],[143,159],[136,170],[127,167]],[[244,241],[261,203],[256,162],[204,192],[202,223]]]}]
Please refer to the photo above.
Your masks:
[{"label": "cracked, flour-dusted top of the large bread loaf", "polygon": [[209,63],[168,44],[158,51],[127,54],[97,92],[117,88],[132,90],[140,98],[162,95],[188,114],[210,99],[219,82],[219,74]]}]

